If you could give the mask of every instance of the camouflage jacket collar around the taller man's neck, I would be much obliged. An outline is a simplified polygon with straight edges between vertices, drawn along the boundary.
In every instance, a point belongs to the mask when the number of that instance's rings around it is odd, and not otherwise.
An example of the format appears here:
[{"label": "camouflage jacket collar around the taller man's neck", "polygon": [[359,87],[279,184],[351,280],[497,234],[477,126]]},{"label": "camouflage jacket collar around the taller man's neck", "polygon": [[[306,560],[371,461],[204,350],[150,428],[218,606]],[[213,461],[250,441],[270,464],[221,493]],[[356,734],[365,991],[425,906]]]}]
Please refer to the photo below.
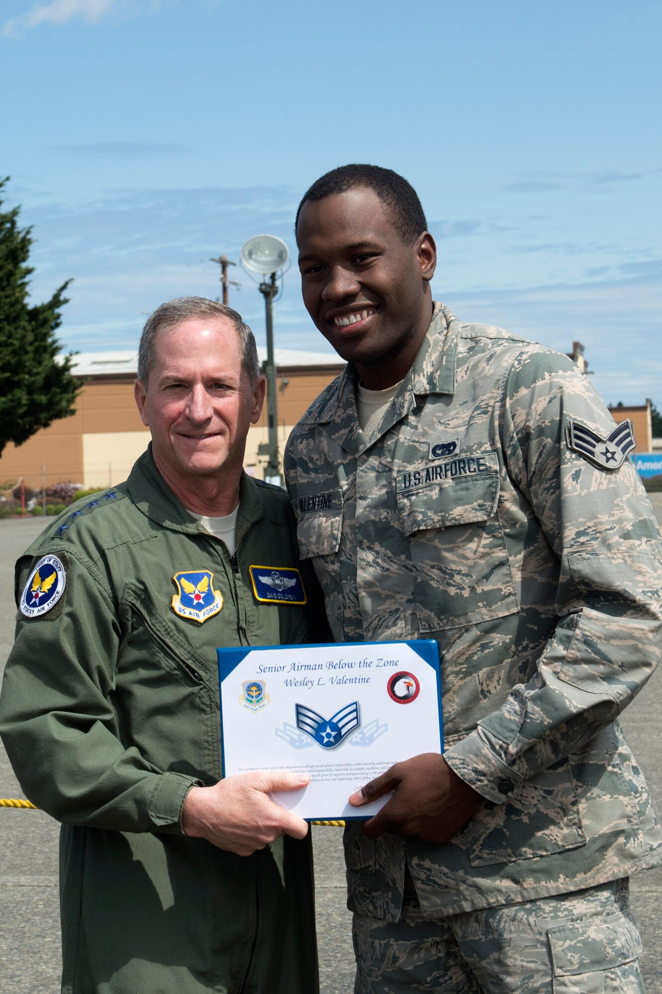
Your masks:
[{"label": "camouflage jacket collar around the taller man's neck", "polygon": [[346,451],[360,455],[389,428],[414,410],[416,396],[455,393],[455,356],[460,322],[447,307],[433,301],[432,320],[412,369],[382,418],[376,436],[368,439],[359,427],[356,410],[358,374],[351,363],[337,381],[326,403],[306,423],[328,424],[329,434]]}]

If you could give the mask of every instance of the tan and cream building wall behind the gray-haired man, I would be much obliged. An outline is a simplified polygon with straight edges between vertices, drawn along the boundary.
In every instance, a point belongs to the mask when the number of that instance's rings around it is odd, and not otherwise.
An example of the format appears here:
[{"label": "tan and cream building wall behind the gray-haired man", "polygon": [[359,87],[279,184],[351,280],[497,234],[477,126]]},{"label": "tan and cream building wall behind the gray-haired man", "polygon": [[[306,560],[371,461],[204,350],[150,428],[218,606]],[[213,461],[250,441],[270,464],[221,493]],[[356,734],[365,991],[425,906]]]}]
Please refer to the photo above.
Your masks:
[{"label": "tan and cream building wall behind the gray-haired man", "polygon": [[[317,395],[338,375],[342,366],[314,370],[283,367],[277,372],[278,445],[282,454],[294,424]],[[248,432],[245,466],[263,475],[265,456],[257,445],[266,442],[266,405],[259,422]],[[149,431],[133,400],[133,377],[93,377],[83,387],[77,413],[42,428],[23,445],[8,444],[0,457],[0,482],[18,480],[39,489],[42,467],[46,486],[71,481],[84,487],[106,487],[125,480],[145,450]]]}]

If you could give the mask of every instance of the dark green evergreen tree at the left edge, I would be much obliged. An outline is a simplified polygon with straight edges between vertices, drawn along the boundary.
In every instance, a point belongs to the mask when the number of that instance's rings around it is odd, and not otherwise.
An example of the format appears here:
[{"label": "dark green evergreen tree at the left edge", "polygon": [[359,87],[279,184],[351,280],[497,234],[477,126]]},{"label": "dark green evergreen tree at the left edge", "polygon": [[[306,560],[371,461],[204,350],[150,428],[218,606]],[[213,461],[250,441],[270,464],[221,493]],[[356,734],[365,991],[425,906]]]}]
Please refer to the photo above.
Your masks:
[{"label": "dark green evergreen tree at the left edge", "polygon": [[[0,193],[7,179],[0,180]],[[27,301],[32,229],[21,229],[19,208],[2,211],[0,198],[0,453],[39,428],[76,414],[83,381],[72,375],[72,355],[61,356],[56,338],[70,280],[43,304]]]}]

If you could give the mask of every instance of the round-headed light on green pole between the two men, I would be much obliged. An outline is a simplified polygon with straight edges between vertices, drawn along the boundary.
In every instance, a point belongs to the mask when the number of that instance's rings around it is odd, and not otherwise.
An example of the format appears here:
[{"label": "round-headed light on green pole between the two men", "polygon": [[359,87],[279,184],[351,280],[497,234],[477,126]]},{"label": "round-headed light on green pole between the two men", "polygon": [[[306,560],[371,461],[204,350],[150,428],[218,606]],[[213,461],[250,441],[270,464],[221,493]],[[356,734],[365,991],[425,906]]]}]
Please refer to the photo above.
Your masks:
[{"label": "round-headed light on green pole between the two men", "polygon": [[275,388],[275,362],[273,359],[273,315],[271,302],[278,292],[276,273],[287,262],[287,246],[273,235],[256,235],[242,247],[242,264],[251,272],[269,276],[259,284],[259,292],[264,297],[266,308],[266,363],[262,369],[266,377],[266,417],[268,423],[268,462],[264,472],[267,483],[280,485],[280,462],[278,459],[277,399]]}]

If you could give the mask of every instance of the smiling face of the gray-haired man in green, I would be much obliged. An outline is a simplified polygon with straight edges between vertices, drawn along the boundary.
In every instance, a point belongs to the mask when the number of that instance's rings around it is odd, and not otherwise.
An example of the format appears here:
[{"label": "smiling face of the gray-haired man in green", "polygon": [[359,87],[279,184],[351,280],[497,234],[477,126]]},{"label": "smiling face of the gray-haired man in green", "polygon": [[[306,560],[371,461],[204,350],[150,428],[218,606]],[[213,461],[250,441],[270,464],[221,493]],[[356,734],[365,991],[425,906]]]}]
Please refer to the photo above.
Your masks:
[{"label": "smiling face of the gray-haired man in green", "polygon": [[192,317],[158,332],[147,387],[135,400],[152,434],[154,461],[176,493],[201,477],[236,478],[248,427],[259,417],[264,378],[251,386],[235,325],[225,317]]}]

